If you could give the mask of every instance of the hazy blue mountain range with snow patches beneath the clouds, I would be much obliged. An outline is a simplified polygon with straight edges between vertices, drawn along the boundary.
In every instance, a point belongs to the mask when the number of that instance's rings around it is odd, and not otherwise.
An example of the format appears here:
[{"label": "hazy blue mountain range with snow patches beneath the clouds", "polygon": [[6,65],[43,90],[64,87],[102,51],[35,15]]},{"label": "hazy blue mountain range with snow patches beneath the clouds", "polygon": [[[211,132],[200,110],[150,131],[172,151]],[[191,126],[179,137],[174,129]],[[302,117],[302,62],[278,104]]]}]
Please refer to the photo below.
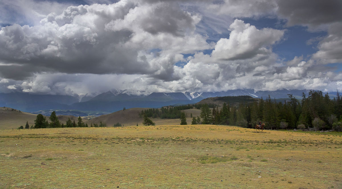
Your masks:
[{"label": "hazy blue mountain range with snow patches beneath the clouds", "polygon": [[[0,106],[12,107],[31,113],[38,113],[38,111],[43,110],[49,110],[43,112],[60,110],[62,114],[66,110],[73,110],[75,116],[86,116],[89,115],[89,111],[95,111],[95,114],[102,115],[104,112],[115,112],[123,108],[160,108],[167,105],[192,104],[209,97],[248,95],[253,98],[265,99],[270,96],[272,99],[280,99],[288,98],[288,94],[292,94],[295,98],[301,99],[303,92],[307,96],[309,90],[258,91],[254,89],[237,89],[222,92],[152,92],[148,95],[135,95],[143,93],[112,89],[95,97],[90,97],[88,94],[66,96],[12,92],[0,93]],[[330,98],[336,97],[336,95],[337,92],[329,92]],[[85,111],[88,111],[88,113],[85,113]],[[60,114],[57,113],[57,115]]]}]

